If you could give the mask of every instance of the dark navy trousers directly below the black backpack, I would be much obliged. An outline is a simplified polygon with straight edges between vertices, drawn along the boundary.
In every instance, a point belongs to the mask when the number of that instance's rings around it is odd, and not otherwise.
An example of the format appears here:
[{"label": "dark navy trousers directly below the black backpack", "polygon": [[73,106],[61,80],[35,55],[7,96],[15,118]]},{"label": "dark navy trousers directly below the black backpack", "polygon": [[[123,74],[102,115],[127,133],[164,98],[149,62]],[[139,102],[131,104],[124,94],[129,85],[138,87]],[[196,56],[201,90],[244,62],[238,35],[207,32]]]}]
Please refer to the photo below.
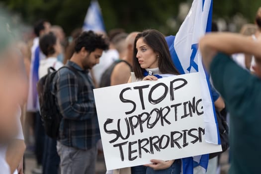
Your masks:
[{"label": "dark navy trousers directly below the black backpack", "polygon": [[45,136],[43,174],[58,174],[60,157],[57,153],[57,140]]}]

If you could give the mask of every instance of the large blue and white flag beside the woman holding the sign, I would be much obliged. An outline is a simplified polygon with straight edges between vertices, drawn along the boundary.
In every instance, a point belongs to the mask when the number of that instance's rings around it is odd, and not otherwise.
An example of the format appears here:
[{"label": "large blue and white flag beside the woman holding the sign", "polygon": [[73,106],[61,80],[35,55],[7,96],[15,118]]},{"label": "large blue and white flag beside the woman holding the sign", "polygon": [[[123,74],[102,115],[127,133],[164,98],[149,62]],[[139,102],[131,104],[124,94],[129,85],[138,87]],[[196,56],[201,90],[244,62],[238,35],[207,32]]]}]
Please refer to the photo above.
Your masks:
[{"label": "large blue and white flag beside the woman holding the sign", "polygon": [[[208,143],[221,144],[209,77],[204,71],[201,55],[198,51],[199,39],[206,32],[211,31],[211,23],[212,0],[193,0],[185,20],[176,33],[170,52],[180,74],[199,72],[204,107],[205,140]],[[194,173],[204,174],[207,165],[208,154],[184,158],[182,159],[181,171],[183,174],[193,174],[193,170]]]}]

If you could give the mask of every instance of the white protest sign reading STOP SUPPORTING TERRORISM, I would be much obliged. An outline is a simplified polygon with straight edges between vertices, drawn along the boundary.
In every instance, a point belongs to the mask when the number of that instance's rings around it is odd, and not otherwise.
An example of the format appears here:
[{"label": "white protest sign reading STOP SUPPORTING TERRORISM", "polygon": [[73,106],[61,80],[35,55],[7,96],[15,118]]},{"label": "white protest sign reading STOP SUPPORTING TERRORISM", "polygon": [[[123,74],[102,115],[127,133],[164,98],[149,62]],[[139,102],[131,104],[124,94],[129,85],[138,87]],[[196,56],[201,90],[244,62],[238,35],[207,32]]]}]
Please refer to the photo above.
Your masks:
[{"label": "white protest sign reading STOP SUPPORTING TERRORISM", "polygon": [[205,142],[198,73],[94,89],[107,170],[221,151]]}]

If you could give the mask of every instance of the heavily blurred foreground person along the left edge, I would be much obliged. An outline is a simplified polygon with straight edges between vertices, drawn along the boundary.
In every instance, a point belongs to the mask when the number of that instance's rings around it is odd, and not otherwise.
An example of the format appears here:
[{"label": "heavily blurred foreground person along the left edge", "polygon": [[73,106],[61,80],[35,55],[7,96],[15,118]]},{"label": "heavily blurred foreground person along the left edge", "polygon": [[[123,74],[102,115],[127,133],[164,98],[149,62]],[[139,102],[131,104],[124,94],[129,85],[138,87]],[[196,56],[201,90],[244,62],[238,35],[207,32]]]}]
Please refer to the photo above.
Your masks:
[{"label": "heavily blurred foreground person along the left edge", "polygon": [[23,174],[25,144],[20,116],[27,97],[27,77],[14,42],[0,18],[0,174]]}]

